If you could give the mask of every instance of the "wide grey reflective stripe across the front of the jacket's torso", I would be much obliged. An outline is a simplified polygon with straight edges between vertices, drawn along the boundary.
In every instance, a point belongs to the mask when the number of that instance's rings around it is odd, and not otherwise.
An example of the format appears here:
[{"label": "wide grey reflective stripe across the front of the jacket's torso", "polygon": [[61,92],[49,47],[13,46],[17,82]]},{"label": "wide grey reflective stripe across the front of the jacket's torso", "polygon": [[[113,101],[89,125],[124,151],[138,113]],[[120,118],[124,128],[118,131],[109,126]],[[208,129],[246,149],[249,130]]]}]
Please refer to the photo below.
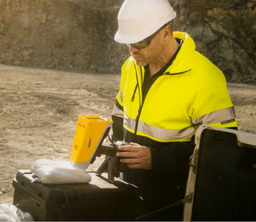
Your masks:
[{"label": "wide grey reflective stripe across the front of the jacket's torso", "polygon": [[[127,115],[124,115],[124,125],[132,131],[135,130],[135,120]],[[183,130],[171,130],[150,126],[145,122],[139,121],[137,132],[162,141],[190,140],[195,134],[195,128],[191,126]]]}]

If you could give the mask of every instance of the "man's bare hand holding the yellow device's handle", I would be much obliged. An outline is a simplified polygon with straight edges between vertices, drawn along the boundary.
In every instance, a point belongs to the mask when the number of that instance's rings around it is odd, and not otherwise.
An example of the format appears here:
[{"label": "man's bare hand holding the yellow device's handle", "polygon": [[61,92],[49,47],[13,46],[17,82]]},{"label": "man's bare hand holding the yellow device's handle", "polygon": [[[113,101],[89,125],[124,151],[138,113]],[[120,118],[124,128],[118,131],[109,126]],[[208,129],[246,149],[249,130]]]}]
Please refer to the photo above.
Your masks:
[{"label": "man's bare hand holding the yellow device's handle", "polygon": [[150,148],[147,146],[140,146],[137,143],[130,143],[128,146],[119,146],[119,150],[126,152],[117,152],[117,157],[121,158],[121,163],[127,164],[131,169],[152,169],[152,157]]}]

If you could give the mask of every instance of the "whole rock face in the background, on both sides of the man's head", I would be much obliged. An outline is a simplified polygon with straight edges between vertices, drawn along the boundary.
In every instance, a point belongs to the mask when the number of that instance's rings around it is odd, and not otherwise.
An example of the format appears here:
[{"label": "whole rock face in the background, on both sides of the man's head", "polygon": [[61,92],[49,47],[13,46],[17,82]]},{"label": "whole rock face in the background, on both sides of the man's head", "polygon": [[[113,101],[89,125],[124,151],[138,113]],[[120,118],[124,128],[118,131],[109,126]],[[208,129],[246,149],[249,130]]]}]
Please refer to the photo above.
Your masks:
[{"label": "whole rock face in the background, on both sides of the man's head", "polygon": [[[0,0],[0,63],[119,74],[129,56],[115,43],[123,0]],[[256,0],[170,0],[173,29],[229,82],[256,82]]]}]

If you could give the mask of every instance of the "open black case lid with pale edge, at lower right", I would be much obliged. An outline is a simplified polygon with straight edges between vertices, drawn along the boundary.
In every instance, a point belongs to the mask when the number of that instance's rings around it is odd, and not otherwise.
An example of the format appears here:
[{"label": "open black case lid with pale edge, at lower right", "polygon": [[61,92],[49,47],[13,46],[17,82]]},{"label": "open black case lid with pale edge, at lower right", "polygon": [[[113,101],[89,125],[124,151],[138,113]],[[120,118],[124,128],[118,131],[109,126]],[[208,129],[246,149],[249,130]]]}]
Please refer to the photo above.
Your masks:
[{"label": "open black case lid with pale edge, at lower right", "polygon": [[256,220],[256,134],[198,128],[184,221]]}]

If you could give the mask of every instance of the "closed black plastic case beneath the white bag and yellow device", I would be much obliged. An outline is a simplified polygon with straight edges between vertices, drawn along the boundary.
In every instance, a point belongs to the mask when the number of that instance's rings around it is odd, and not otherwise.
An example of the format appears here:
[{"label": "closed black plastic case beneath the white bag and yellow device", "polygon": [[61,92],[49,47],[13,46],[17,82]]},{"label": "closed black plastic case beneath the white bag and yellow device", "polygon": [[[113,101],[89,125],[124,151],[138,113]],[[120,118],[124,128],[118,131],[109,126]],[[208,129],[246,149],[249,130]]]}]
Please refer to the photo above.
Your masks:
[{"label": "closed black plastic case beneath the white bag and yellow device", "polygon": [[88,184],[47,185],[31,183],[31,171],[20,170],[13,179],[13,204],[34,221],[135,221],[143,204],[138,188],[90,175]]}]

